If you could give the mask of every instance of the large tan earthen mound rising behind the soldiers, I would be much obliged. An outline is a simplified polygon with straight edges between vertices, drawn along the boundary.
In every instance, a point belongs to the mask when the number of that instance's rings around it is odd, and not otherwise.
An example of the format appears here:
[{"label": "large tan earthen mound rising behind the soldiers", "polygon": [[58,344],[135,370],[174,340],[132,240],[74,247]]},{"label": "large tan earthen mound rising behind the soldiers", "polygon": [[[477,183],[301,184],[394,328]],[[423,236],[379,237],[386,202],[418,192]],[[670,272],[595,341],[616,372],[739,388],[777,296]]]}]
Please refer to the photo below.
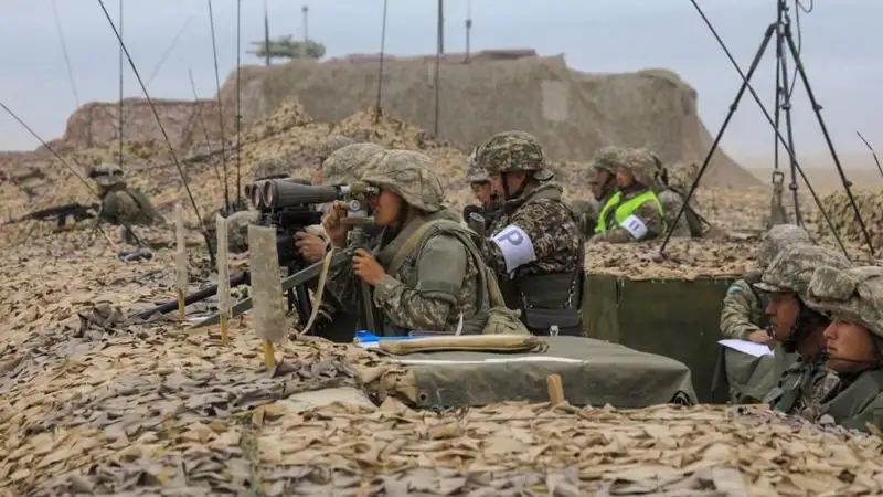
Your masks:
[{"label": "large tan earthen mound rising behind the soldiers", "polygon": [[[407,123],[434,130],[435,62],[384,63],[383,107]],[[465,148],[494,133],[535,134],[555,160],[588,160],[606,145],[649,146],[667,162],[701,161],[711,137],[696,114],[695,91],[671,72],[586,74],[562,56],[444,62],[438,137]],[[292,96],[319,120],[337,121],[374,103],[377,64],[363,60],[295,61],[242,72],[243,118],[252,121]],[[222,89],[235,96],[234,80]],[[703,184],[758,184],[719,151]]]}]

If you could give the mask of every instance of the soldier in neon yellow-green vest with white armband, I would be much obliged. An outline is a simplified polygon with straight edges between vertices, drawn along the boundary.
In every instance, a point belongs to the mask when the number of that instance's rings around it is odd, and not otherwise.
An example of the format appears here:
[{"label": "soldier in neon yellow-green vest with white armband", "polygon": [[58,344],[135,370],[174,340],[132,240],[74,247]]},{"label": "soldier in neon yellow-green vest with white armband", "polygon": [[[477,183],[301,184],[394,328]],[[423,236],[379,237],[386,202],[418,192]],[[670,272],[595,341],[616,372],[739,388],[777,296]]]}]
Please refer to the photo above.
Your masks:
[{"label": "soldier in neon yellow-green vest with white armband", "polygon": [[616,154],[613,162],[617,191],[602,207],[589,242],[640,242],[663,234],[662,204],[652,191],[653,156],[646,149],[627,149]]}]

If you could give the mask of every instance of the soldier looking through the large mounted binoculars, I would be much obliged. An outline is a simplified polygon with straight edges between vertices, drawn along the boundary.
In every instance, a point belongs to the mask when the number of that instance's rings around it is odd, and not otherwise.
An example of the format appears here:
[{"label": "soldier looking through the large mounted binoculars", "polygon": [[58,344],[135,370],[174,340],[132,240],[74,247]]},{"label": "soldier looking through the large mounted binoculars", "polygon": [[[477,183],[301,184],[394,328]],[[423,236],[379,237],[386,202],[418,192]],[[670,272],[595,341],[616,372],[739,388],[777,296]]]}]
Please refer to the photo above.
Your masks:
[{"label": "soldier looking through the large mounted binoculars", "polygon": [[[479,292],[483,271],[475,236],[459,223],[444,219],[444,190],[433,160],[419,152],[389,150],[362,180],[380,189],[371,199],[382,226],[375,254],[357,248],[350,267],[334,273],[331,292],[341,302],[354,302],[357,278],[373,288],[373,304],[382,319],[374,330],[385,336],[412,330],[480,332],[488,309],[487,292]],[[322,225],[331,243],[345,244],[341,223],[347,205],[336,202]],[[465,243],[466,242],[466,243]],[[483,274],[483,273],[482,273]]]}]

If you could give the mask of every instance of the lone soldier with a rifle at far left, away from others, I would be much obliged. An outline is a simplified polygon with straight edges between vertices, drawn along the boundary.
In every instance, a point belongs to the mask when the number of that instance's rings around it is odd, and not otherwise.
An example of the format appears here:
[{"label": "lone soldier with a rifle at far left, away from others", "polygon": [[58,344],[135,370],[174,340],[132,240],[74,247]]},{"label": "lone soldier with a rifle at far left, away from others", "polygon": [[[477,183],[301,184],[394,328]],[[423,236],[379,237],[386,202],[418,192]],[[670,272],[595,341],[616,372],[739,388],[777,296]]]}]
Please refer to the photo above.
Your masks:
[{"label": "lone soldier with a rifle at far left, away from others", "polygon": [[[151,225],[164,224],[166,220],[153,209],[147,197],[138,189],[128,189],[123,169],[116,163],[102,163],[89,169],[89,178],[98,183],[102,198],[100,219],[111,224]],[[121,229],[126,243],[134,243],[127,226]]]}]

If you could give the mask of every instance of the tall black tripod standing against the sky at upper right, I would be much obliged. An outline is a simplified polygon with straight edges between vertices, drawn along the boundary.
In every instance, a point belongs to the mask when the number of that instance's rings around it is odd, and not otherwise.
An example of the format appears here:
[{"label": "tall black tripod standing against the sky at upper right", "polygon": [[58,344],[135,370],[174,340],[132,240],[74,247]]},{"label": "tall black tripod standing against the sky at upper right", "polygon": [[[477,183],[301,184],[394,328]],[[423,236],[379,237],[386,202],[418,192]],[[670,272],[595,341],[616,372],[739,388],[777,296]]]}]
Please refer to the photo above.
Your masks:
[{"label": "tall black tripod standing against the sky at upper right", "polygon": [[[695,190],[699,187],[699,183],[702,180],[702,177],[705,173],[705,170],[709,168],[709,163],[711,162],[711,158],[714,155],[714,151],[717,149],[719,144],[721,142],[721,139],[723,138],[723,135],[726,131],[727,126],[730,125],[730,120],[733,118],[733,115],[736,113],[736,109],[738,108],[738,104],[742,101],[742,96],[745,94],[746,89],[751,92],[751,94],[754,97],[755,102],[757,102],[757,105],[760,107],[760,110],[764,113],[764,116],[766,117],[766,119],[769,123],[769,125],[773,127],[773,131],[776,135],[776,144],[777,144],[777,146],[776,146],[776,172],[774,172],[774,176],[773,176],[773,179],[774,179],[774,195],[775,195],[776,181],[778,181],[778,183],[779,183],[779,192],[781,191],[781,182],[784,181],[784,175],[780,171],[778,171],[778,145],[780,144],[783,149],[788,154],[788,157],[790,159],[790,167],[791,167],[790,189],[791,189],[791,191],[794,193],[796,221],[798,222],[798,224],[802,223],[802,220],[799,216],[800,215],[799,214],[800,211],[799,211],[799,209],[797,207],[798,198],[797,198],[797,178],[796,178],[796,176],[799,173],[800,177],[804,179],[804,183],[806,183],[807,189],[809,190],[810,194],[812,195],[812,199],[816,201],[816,205],[819,208],[819,212],[822,214],[822,216],[825,218],[825,221],[828,223],[828,228],[831,230],[831,233],[833,233],[834,237],[837,237],[837,242],[840,245],[840,248],[843,251],[844,254],[847,254],[847,250],[843,246],[842,241],[838,236],[837,229],[834,228],[833,223],[831,222],[830,218],[828,216],[828,213],[825,211],[825,208],[821,205],[821,201],[819,200],[818,194],[816,194],[816,191],[812,188],[812,184],[810,184],[809,179],[806,177],[806,175],[804,173],[802,168],[797,162],[797,157],[795,156],[795,152],[794,152],[794,137],[792,137],[792,129],[791,129],[791,113],[790,113],[791,103],[790,103],[790,91],[787,89],[788,88],[788,67],[787,67],[786,56],[785,56],[786,55],[785,54],[785,46],[788,47],[788,51],[790,52],[790,55],[794,59],[795,67],[797,70],[796,73],[800,77],[800,80],[801,80],[801,82],[804,84],[804,88],[807,92],[807,96],[809,97],[809,102],[812,104],[812,112],[816,114],[816,118],[819,121],[819,127],[821,128],[822,135],[825,135],[825,141],[828,145],[828,150],[831,154],[831,158],[834,161],[834,166],[837,166],[837,171],[840,175],[840,180],[843,183],[843,188],[845,189],[847,197],[849,197],[849,201],[850,201],[850,204],[852,207],[852,210],[855,213],[855,219],[859,222],[859,225],[860,225],[860,228],[862,230],[862,234],[864,235],[865,242],[868,243],[868,247],[870,248],[871,254],[873,254],[874,253],[874,247],[873,247],[873,244],[871,243],[871,236],[868,234],[868,229],[865,228],[864,221],[861,218],[861,214],[859,212],[859,207],[855,204],[855,198],[852,195],[852,191],[850,190],[851,183],[847,180],[845,173],[843,172],[843,167],[840,163],[840,158],[837,155],[837,150],[834,149],[833,142],[831,141],[831,137],[830,137],[830,135],[828,133],[828,127],[825,125],[825,119],[822,119],[822,117],[821,117],[821,108],[822,107],[821,107],[821,105],[819,105],[818,101],[816,99],[816,95],[812,92],[812,87],[809,84],[809,77],[807,76],[806,70],[804,67],[804,63],[800,60],[800,51],[797,49],[797,43],[795,43],[795,41],[794,41],[794,34],[791,32],[791,27],[790,27],[790,19],[787,15],[788,7],[786,4],[786,0],[776,0],[776,2],[777,2],[777,6],[776,6],[777,7],[776,22],[774,22],[773,24],[769,24],[769,27],[767,27],[766,31],[764,32],[764,38],[763,38],[763,41],[760,42],[760,47],[757,50],[757,53],[754,55],[754,59],[752,60],[752,63],[748,66],[747,74],[742,72],[742,68],[740,68],[738,63],[736,63],[735,59],[733,59],[733,55],[730,53],[730,50],[724,44],[723,40],[721,40],[721,36],[717,34],[717,31],[711,24],[711,21],[709,21],[709,18],[705,17],[705,13],[702,11],[702,9],[696,3],[696,0],[690,0],[690,1],[691,1],[691,3],[693,3],[693,7],[696,9],[699,14],[702,17],[702,20],[709,27],[709,29],[711,30],[711,32],[714,35],[714,38],[717,40],[717,43],[721,45],[721,47],[723,47],[724,52],[726,53],[726,56],[730,59],[730,62],[732,62],[733,65],[736,67],[736,71],[738,71],[740,76],[742,76],[742,86],[740,87],[738,92],[736,92],[735,99],[733,101],[733,103],[730,106],[730,112],[727,113],[726,118],[724,119],[723,124],[721,125],[721,129],[717,131],[717,135],[714,137],[714,141],[712,142],[711,148],[709,149],[709,152],[708,152],[708,155],[705,156],[705,159],[702,162],[702,167],[699,169],[699,173],[696,175],[696,178],[693,180],[693,183],[690,186],[690,191],[687,193],[687,198],[684,199],[683,205],[681,205],[681,209],[678,211],[678,215],[674,218],[674,222],[671,223],[671,225],[669,226],[668,231],[666,232],[666,239],[663,240],[662,245],[659,248],[660,254],[663,253],[663,251],[666,250],[666,245],[668,245],[669,241],[671,240],[671,235],[672,235],[672,232],[674,231],[674,226],[678,225],[678,222],[681,220],[681,216],[684,215],[684,211],[687,210],[687,207],[689,205],[690,199],[695,193]],[[774,34],[776,35],[776,45],[777,45],[777,50],[776,50],[776,56],[777,56],[777,64],[776,64],[776,70],[777,70],[776,76],[777,77],[776,77],[776,80],[777,80],[777,85],[776,85],[776,117],[775,117],[775,119],[769,116],[769,113],[767,112],[767,109],[764,106],[763,102],[760,102],[760,97],[757,96],[757,93],[754,91],[754,88],[751,85],[751,78],[754,75],[755,71],[757,70],[757,66],[760,64],[760,60],[764,57],[764,53],[766,52],[766,49],[769,45],[769,42],[773,40],[773,35]],[[779,85],[779,83],[780,83],[780,85]],[[780,109],[785,110],[785,121],[786,121],[786,128],[787,128],[787,133],[788,133],[787,141],[786,141],[786,138],[783,137],[781,131],[779,130],[779,116],[780,116],[779,110]],[[775,202],[775,198],[774,198],[774,202]]]}]

